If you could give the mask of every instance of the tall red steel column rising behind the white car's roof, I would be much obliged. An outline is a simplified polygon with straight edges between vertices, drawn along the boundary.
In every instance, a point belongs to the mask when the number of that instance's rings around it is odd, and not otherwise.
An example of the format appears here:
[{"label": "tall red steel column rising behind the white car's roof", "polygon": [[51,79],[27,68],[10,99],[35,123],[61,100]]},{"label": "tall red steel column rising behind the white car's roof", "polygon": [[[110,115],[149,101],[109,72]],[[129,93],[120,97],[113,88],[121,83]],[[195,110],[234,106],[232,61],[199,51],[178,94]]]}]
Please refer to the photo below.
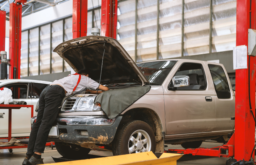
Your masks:
[{"label": "tall red steel column rising behind the white car's roof", "polygon": [[21,13],[22,5],[10,4],[9,79],[21,77]]}]

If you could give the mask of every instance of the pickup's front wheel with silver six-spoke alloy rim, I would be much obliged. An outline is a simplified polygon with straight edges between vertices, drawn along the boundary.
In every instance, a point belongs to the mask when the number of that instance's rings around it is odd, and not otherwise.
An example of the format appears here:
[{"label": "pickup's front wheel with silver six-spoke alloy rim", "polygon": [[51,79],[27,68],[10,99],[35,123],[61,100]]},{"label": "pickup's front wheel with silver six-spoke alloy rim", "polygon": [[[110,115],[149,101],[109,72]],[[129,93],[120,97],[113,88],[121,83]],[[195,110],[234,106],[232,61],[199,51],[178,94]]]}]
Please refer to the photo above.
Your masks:
[{"label": "pickup's front wheel with silver six-spoke alloy rim", "polygon": [[152,128],[140,120],[120,125],[112,142],[114,156],[147,151],[155,153],[155,148],[156,140]]}]

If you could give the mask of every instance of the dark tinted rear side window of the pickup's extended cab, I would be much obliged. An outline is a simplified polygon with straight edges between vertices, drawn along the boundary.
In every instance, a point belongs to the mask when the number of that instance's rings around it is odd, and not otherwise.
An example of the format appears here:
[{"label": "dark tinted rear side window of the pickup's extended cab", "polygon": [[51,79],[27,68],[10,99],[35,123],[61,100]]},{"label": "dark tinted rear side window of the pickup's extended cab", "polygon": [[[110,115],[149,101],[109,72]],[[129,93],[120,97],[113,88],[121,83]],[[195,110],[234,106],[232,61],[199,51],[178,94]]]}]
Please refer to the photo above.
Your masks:
[{"label": "dark tinted rear side window of the pickup's extended cab", "polygon": [[219,99],[229,99],[231,97],[228,79],[223,68],[219,65],[208,64],[217,97]]}]

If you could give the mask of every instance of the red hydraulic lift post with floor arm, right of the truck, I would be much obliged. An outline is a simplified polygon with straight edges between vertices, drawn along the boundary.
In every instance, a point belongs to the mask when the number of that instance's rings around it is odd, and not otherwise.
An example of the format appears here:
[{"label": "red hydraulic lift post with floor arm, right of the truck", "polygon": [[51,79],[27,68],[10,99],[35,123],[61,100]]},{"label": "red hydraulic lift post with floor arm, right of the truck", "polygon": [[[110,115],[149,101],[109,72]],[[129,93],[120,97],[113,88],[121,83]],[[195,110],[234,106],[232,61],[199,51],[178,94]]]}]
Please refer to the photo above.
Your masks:
[{"label": "red hydraulic lift post with floor arm, right of the truck", "polygon": [[[236,47],[247,46],[248,50],[248,29],[256,29],[255,7],[255,1],[237,0]],[[253,159],[255,147],[256,57],[248,56],[248,51],[246,54],[248,68],[238,69],[235,74],[235,133],[229,142],[214,148],[169,149],[165,152],[213,157],[234,157],[234,159],[226,162],[227,165],[233,164],[235,161],[240,161],[235,163],[235,165],[255,164]]]}]

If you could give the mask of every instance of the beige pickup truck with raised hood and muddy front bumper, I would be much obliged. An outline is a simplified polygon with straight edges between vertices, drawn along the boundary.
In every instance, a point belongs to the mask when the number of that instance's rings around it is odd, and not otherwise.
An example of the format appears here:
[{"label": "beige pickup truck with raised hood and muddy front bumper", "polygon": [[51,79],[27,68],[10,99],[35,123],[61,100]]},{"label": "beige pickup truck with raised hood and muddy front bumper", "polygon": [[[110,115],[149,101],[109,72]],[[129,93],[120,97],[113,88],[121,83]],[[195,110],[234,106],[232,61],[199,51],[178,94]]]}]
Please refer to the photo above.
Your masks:
[{"label": "beige pickup truck with raised hood and muddy front bumper", "polygon": [[54,51],[75,72],[87,68],[97,82],[103,67],[100,83],[110,90],[151,86],[114,119],[93,103],[96,95],[66,99],[48,137],[62,156],[83,157],[102,146],[114,156],[164,152],[164,144],[197,148],[208,139],[227,141],[234,131],[235,95],[222,64],[185,59],[136,64],[117,40],[104,36],[76,38]]}]

